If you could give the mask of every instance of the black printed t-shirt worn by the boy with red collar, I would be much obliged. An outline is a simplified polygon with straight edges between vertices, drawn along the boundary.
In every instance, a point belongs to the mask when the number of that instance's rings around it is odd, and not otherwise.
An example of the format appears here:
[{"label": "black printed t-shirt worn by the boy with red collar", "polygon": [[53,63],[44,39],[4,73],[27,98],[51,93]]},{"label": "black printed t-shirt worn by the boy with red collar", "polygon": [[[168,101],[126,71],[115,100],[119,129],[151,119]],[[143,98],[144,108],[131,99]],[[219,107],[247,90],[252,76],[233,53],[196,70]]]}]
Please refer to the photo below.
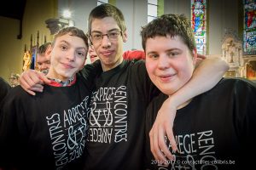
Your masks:
[{"label": "black printed t-shirt worn by the boy with red collar", "polygon": [[70,87],[44,86],[27,94],[12,88],[0,116],[0,167],[77,169],[88,130],[90,88],[84,79]]}]

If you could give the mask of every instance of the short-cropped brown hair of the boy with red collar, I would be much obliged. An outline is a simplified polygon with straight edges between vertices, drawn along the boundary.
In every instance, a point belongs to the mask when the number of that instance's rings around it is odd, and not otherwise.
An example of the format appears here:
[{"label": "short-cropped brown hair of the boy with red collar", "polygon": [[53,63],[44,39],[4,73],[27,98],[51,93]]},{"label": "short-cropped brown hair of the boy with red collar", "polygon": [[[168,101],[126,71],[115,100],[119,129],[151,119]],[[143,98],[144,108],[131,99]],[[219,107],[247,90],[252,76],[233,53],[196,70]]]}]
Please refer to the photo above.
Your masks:
[{"label": "short-cropped brown hair of the boy with red collar", "polygon": [[88,38],[87,36],[84,34],[84,31],[80,30],[77,27],[74,26],[69,26],[69,27],[64,27],[62,28],[60,31],[58,31],[55,36],[54,36],[54,40],[52,42],[52,45],[55,45],[55,41],[57,37],[61,37],[63,35],[69,34],[70,36],[74,36],[74,37],[80,37],[84,40],[84,43],[86,45],[86,47],[88,48]]}]

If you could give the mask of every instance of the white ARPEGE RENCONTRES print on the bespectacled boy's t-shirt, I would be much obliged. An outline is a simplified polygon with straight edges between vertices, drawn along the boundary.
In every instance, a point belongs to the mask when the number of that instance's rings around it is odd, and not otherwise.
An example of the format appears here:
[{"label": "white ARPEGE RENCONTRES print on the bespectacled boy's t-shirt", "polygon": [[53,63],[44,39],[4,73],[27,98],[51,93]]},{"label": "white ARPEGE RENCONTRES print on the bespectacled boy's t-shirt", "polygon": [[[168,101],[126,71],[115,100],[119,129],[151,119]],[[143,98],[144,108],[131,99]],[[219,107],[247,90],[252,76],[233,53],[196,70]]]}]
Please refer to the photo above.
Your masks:
[{"label": "white ARPEGE RENCONTRES print on the bespectacled boy's t-shirt", "polygon": [[90,111],[90,142],[127,141],[126,86],[99,88],[93,93]]}]

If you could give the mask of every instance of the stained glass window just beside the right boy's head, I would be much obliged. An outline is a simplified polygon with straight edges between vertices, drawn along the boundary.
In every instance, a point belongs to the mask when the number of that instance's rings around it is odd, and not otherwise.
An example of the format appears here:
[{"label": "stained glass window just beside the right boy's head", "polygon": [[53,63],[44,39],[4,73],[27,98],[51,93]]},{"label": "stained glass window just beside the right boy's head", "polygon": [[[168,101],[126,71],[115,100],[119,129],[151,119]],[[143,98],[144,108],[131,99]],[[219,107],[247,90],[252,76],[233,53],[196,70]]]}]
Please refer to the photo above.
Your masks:
[{"label": "stained glass window just beside the right boy's head", "polygon": [[207,0],[191,0],[191,26],[197,53],[207,54]]}]

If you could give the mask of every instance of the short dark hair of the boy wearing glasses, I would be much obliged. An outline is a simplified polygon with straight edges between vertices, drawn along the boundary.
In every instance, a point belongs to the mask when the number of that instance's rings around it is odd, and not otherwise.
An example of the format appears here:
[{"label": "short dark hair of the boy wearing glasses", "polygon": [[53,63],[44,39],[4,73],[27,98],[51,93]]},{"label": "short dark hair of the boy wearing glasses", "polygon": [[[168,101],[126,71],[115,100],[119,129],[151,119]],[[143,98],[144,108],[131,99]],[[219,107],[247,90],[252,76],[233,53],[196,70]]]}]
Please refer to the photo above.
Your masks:
[{"label": "short dark hair of the boy wearing glasses", "polygon": [[90,34],[92,20],[103,19],[105,17],[112,17],[117,22],[121,31],[126,31],[124,14],[119,10],[119,8],[108,3],[104,3],[90,11],[87,33]]}]

